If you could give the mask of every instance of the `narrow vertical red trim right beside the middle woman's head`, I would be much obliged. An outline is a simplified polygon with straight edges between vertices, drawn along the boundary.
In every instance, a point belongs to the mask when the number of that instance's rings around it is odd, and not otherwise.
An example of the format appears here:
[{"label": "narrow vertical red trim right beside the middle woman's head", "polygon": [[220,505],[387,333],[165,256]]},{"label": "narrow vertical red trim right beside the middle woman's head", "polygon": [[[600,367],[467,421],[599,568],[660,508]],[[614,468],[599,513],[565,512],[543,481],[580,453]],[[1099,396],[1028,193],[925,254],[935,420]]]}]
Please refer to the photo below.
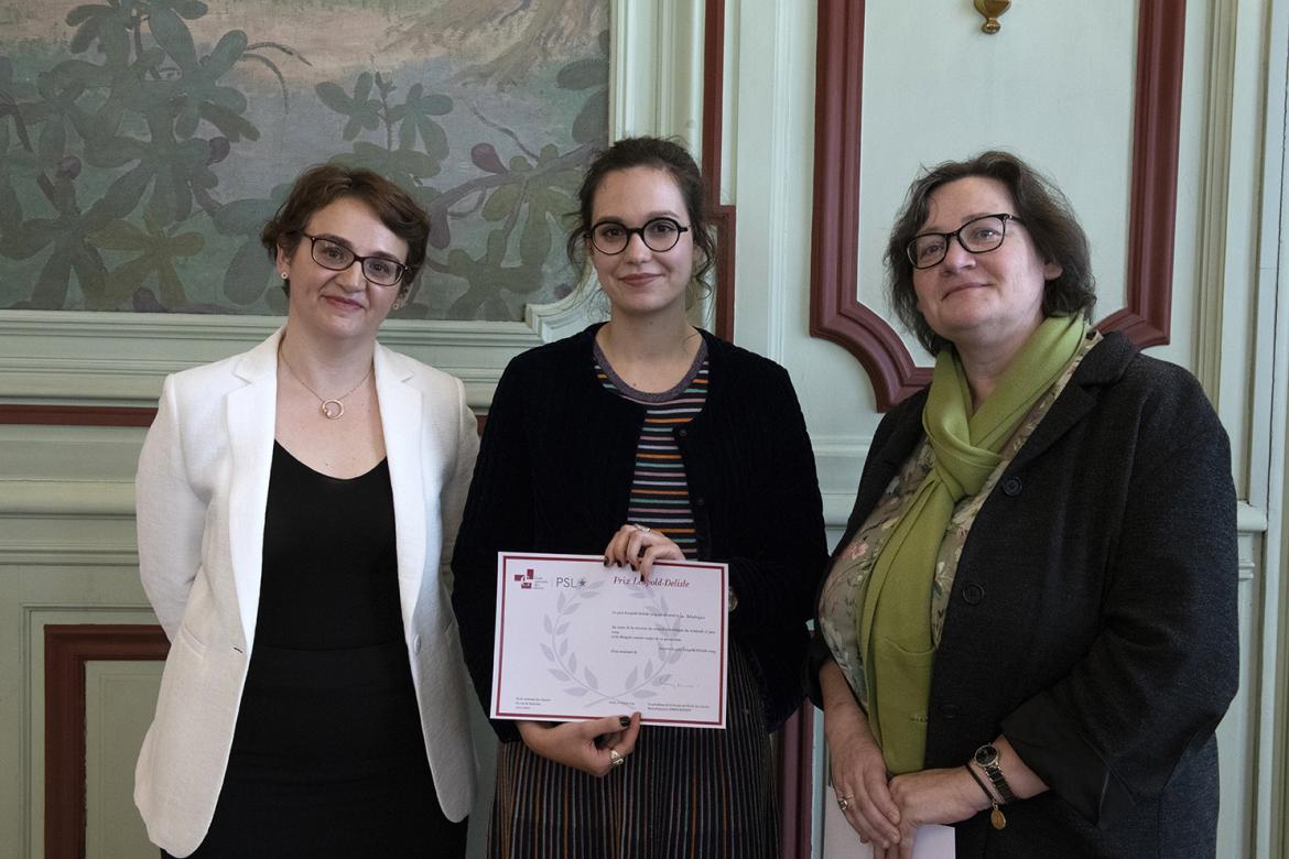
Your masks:
[{"label": "narrow vertical red trim right beside the middle woman's head", "polygon": [[703,160],[704,193],[717,232],[717,305],[713,328],[733,341],[735,207],[721,202],[721,149],[724,140],[724,0],[706,0],[703,13]]}]

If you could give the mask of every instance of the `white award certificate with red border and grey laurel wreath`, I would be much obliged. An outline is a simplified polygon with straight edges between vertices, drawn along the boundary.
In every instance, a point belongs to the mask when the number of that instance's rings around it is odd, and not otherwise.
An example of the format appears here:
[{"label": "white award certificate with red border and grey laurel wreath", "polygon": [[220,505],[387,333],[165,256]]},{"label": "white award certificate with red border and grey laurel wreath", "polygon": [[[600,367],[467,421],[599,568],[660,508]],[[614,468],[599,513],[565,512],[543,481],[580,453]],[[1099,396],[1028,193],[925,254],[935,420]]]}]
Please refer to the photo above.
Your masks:
[{"label": "white award certificate with red border and grey laurel wreath", "polygon": [[726,564],[498,552],[492,719],[724,728]]}]

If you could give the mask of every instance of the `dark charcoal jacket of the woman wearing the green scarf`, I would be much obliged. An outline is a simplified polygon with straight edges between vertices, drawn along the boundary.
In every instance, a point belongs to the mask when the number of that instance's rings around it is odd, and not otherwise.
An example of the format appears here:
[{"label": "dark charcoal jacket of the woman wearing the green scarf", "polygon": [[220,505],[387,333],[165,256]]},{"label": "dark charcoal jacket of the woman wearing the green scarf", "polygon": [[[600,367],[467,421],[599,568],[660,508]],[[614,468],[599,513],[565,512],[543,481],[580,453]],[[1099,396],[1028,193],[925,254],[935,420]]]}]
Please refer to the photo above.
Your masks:
[{"label": "dark charcoal jacket of the woman wearing the green scarf", "polygon": [[[839,549],[920,442],[924,404],[926,390],[878,428]],[[984,813],[958,824],[959,856],[1213,855],[1213,730],[1239,683],[1235,513],[1199,384],[1109,335],[958,563],[926,766],[962,766],[1002,733],[1052,788],[1008,806],[1000,832]]]}]

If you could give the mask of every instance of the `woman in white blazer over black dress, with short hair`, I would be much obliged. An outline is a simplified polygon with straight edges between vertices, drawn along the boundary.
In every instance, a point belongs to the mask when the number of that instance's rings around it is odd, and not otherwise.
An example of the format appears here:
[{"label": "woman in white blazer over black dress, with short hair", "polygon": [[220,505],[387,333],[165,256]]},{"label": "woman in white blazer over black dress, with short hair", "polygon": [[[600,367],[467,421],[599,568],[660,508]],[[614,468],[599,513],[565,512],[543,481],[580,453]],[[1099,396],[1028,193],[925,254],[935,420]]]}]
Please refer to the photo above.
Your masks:
[{"label": "woman in white blazer over black dress, with short hair", "polygon": [[311,169],[263,232],[286,325],[165,381],[135,482],[170,654],[134,798],[162,855],[464,854],[441,571],[476,421],[460,381],[376,343],[428,233],[376,174]]}]

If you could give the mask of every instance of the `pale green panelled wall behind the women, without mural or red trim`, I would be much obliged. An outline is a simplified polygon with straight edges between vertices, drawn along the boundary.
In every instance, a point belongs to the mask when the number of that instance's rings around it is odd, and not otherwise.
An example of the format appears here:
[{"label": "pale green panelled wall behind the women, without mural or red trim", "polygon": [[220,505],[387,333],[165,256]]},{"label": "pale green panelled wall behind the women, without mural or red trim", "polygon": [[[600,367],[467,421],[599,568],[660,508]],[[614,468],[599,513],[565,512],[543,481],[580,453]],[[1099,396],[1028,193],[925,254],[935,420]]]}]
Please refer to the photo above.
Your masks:
[{"label": "pale green panelled wall behind the women, without mural or red trim", "polygon": [[[978,33],[967,0],[866,5],[865,300],[884,312],[873,247],[915,165],[1008,144],[1070,192],[1094,241],[1101,312],[1119,307],[1136,3],[1018,0],[996,36]],[[614,4],[617,135],[678,134],[696,148],[703,6]],[[1235,448],[1243,683],[1221,729],[1221,853],[1270,856],[1284,846],[1285,809],[1289,0],[1186,6],[1173,337],[1152,352],[1196,372]],[[722,187],[739,219],[735,335],[793,376],[835,538],[879,415],[855,358],[808,336],[815,4],[727,0],[726,26]],[[1005,85],[964,98],[964,68]],[[472,404],[486,407],[510,355],[583,318],[570,303],[532,309],[522,323],[391,323],[382,339],[461,375]],[[0,312],[0,401],[151,404],[165,372],[241,350],[275,325]],[[0,426],[0,856],[43,853],[43,626],[150,619],[133,555],[141,440],[131,429]],[[115,712],[117,690],[139,680],[110,671],[95,683],[107,689],[103,711]],[[94,820],[121,814],[102,792],[89,801]],[[485,797],[477,823],[486,807]]]}]

